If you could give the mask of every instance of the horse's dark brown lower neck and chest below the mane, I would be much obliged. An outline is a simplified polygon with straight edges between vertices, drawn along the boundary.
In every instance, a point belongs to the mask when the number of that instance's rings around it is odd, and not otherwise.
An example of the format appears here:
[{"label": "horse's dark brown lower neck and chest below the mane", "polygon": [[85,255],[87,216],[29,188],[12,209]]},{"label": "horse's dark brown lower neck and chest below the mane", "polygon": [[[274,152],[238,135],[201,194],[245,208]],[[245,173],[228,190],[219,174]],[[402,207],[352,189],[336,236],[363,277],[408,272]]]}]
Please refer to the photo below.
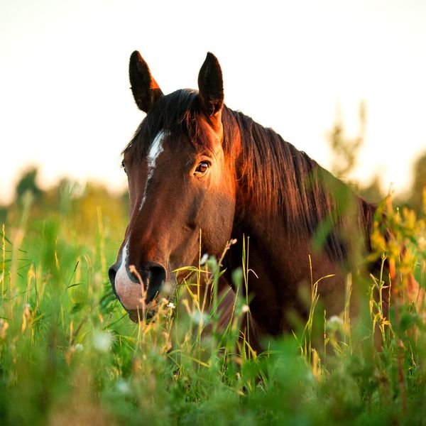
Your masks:
[{"label": "horse's dark brown lower neck and chest below the mane", "polygon": [[[327,248],[317,251],[312,246],[312,234],[302,229],[290,229],[283,210],[271,213],[260,207],[248,209],[247,205],[241,205],[244,200],[244,194],[237,195],[232,235],[238,243],[231,251],[229,271],[244,263],[248,276],[247,290],[250,297],[254,295],[251,312],[261,332],[279,335],[283,330],[291,329],[286,312],[299,312],[302,317],[306,317],[307,305],[300,299],[300,284],[315,283],[329,275],[334,277],[327,278],[326,287],[322,285],[322,290],[328,292],[327,312],[337,315],[344,302],[344,291],[334,295],[332,290],[341,287],[344,282],[344,255],[338,253],[339,249],[342,250],[339,239],[335,246],[330,246],[329,253]],[[360,222],[366,229],[360,229],[354,220],[352,224],[356,225],[357,231],[361,231],[361,239],[365,232],[364,244],[367,242],[368,249],[373,207],[358,200],[363,210]],[[246,253],[244,258],[241,257],[243,248]],[[326,290],[327,286],[329,290]]]}]

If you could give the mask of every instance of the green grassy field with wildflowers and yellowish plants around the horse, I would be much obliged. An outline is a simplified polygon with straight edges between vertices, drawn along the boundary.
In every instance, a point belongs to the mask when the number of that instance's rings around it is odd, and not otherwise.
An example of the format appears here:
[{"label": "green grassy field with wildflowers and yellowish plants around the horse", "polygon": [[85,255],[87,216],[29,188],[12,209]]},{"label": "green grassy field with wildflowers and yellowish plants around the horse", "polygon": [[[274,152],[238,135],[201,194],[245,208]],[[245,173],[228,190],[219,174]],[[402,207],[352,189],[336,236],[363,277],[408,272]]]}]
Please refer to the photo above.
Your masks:
[{"label": "green grassy field with wildflowers and yellowish plants around the horse", "polygon": [[[426,310],[405,297],[410,274],[426,285],[422,217],[388,202],[393,237],[373,236],[377,256],[384,251],[396,267],[390,321],[371,296],[388,277],[354,271],[347,298],[351,286],[361,289],[357,320],[347,310],[325,320],[321,283],[312,283],[307,324],[295,320],[293,334],[256,354],[236,321],[222,333],[214,307],[203,312],[197,271],[179,309],[165,301],[155,321],[133,324],[107,278],[126,209],[66,189],[56,204],[21,197],[0,223],[1,425],[426,423]],[[248,265],[241,253],[236,285]],[[214,285],[217,261],[200,268]],[[237,300],[236,320],[246,302]]]}]

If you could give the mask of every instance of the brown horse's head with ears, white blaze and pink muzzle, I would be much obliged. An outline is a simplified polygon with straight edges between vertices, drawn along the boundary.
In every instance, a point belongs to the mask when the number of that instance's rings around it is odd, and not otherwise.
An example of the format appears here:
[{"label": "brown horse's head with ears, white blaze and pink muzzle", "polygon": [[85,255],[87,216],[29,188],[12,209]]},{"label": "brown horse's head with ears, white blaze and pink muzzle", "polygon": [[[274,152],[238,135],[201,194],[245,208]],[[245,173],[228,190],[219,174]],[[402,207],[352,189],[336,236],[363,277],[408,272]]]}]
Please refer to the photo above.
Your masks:
[{"label": "brown horse's head with ears, white blaze and pink muzzle", "polygon": [[[160,295],[175,292],[180,266],[200,249],[218,255],[231,236],[236,204],[234,165],[224,140],[219,62],[207,54],[199,90],[165,95],[140,53],[130,58],[131,90],[146,117],[124,150],[129,224],[109,279],[136,320]],[[237,139],[237,138],[236,138]]]}]

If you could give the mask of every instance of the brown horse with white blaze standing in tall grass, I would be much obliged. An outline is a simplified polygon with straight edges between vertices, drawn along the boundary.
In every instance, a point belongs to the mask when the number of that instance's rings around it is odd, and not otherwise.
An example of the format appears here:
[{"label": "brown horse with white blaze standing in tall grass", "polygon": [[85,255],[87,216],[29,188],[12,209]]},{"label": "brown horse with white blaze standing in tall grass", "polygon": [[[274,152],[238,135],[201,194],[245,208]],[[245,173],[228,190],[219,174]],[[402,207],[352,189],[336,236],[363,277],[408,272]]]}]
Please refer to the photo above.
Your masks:
[{"label": "brown horse with white blaze standing in tall grass", "polygon": [[147,115],[124,150],[130,221],[109,278],[131,318],[175,292],[173,271],[197,264],[200,231],[202,253],[220,256],[229,239],[238,241],[225,258],[229,283],[249,237],[250,312],[261,334],[288,330],[289,312],[305,315],[301,289],[326,275],[322,303],[327,315],[339,314],[349,253],[370,250],[376,207],[275,131],[226,107],[212,53],[198,91],[164,95],[138,52],[130,81]]}]

